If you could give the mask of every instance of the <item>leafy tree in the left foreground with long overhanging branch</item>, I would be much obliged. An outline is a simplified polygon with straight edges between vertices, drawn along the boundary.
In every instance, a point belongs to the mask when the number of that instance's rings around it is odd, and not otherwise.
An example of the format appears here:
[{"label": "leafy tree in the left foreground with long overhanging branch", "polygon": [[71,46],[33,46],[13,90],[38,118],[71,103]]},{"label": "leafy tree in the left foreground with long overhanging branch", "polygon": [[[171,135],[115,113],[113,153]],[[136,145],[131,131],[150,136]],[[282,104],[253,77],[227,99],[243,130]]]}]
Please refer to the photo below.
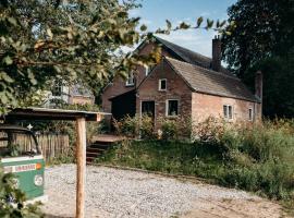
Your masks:
[{"label": "leafy tree in the left foreground with long overhanging branch", "polygon": [[[151,38],[147,26],[128,10],[135,0],[2,0],[0,1],[0,109],[37,102],[56,78],[76,81],[97,90],[113,74],[126,76],[137,64],[158,62],[160,49],[148,57],[120,56],[122,46]],[[225,22],[199,17],[155,33],[186,28],[220,29]],[[216,24],[216,27],[213,27]],[[98,92],[99,93],[99,92]]]}]

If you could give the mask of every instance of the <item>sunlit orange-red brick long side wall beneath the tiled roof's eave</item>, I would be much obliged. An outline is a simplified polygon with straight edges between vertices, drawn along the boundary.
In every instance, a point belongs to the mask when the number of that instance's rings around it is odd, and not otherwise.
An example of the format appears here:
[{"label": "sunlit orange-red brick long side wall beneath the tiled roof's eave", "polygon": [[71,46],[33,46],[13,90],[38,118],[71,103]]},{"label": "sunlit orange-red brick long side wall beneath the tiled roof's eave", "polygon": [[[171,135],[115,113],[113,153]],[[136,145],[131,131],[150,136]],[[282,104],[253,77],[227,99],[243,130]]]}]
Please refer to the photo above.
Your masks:
[{"label": "sunlit orange-red brick long side wall beneath the tiled roof's eave", "polygon": [[249,108],[255,111],[254,114],[257,120],[261,119],[260,104],[200,93],[193,93],[192,95],[192,119],[194,122],[201,122],[208,117],[223,118],[223,105],[233,107],[233,122],[247,122]]}]

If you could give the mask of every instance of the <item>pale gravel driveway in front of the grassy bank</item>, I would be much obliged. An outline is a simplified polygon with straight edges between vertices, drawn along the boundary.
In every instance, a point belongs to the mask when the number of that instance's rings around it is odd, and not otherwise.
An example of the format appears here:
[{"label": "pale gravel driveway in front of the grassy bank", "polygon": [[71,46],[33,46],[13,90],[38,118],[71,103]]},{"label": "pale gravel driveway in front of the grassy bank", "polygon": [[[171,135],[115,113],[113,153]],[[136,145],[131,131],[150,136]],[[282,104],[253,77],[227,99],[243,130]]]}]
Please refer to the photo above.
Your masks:
[{"label": "pale gravel driveway in front of the grassy bank", "polygon": [[[46,169],[46,214],[74,216],[75,170],[74,165]],[[274,217],[280,211],[278,205],[246,192],[106,167],[87,166],[86,196],[87,218],[197,217],[199,213],[200,217]],[[242,211],[246,205],[256,209],[256,216]],[[220,216],[218,209],[228,213]]]}]

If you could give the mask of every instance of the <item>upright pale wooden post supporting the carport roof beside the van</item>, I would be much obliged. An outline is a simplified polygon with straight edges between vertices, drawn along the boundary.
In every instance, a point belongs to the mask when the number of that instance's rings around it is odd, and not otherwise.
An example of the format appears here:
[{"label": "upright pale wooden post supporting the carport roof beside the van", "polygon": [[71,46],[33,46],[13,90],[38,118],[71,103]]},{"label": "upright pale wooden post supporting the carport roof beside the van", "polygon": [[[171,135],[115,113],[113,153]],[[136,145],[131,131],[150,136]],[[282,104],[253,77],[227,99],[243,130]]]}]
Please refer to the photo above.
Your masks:
[{"label": "upright pale wooden post supporting the carport roof beside the van", "polygon": [[76,218],[85,217],[86,120],[76,119]]}]

